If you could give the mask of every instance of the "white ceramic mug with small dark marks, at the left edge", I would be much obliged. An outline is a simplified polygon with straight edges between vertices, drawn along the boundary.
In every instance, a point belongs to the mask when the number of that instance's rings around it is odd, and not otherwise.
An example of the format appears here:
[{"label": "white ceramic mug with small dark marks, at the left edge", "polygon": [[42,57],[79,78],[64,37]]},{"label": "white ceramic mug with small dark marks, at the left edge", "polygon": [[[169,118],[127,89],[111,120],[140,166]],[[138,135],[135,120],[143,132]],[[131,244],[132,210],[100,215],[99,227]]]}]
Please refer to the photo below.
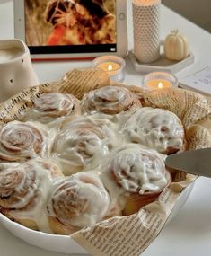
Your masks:
[{"label": "white ceramic mug with small dark marks, at the left edge", "polygon": [[0,102],[37,84],[27,45],[22,40],[0,40]]}]

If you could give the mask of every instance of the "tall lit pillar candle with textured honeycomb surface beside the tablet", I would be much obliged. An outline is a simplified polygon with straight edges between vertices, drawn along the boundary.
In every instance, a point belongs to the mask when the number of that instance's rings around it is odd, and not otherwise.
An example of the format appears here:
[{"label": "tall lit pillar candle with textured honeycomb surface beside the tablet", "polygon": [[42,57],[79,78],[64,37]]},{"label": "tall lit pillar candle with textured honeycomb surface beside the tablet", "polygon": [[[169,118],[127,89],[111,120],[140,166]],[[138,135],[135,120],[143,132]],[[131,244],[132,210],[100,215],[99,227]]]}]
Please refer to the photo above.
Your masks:
[{"label": "tall lit pillar candle with textured honeycomb surface beside the tablet", "polygon": [[134,54],[140,63],[160,57],[161,0],[132,0]]}]

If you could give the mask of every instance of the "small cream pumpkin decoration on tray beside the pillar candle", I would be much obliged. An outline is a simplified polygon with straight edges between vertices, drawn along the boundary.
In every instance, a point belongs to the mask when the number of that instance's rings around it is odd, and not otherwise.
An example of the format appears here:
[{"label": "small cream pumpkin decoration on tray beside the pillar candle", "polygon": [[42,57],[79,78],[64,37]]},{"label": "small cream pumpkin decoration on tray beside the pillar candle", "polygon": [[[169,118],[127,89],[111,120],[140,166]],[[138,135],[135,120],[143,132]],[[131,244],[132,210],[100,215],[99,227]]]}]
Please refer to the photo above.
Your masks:
[{"label": "small cream pumpkin decoration on tray beside the pillar candle", "polygon": [[186,36],[178,30],[171,31],[164,43],[165,57],[171,60],[180,61],[189,56],[189,41]]}]

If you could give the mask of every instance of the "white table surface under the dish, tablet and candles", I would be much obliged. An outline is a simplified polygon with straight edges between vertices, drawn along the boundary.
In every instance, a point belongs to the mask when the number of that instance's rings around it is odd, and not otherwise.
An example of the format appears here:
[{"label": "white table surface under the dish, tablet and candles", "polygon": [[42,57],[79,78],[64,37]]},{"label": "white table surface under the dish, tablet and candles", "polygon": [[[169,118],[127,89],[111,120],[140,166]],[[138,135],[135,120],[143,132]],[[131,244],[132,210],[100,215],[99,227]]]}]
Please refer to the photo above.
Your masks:
[{"label": "white table surface under the dish, tablet and candles", "polygon": [[[2,0],[0,0],[0,3]],[[13,1],[0,4],[0,40],[13,38]],[[7,2],[7,3],[6,3]],[[129,4],[130,1],[127,1]],[[190,6],[191,8],[191,6]],[[128,6],[128,27],[131,28],[131,8]],[[190,42],[191,51],[196,60],[192,66],[177,74],[178,78],[190,75],[211,65],[211,35],[197,25],[187,21],[177,13],[162,7],[162,37],[173,29],[185,33]],[[132,30],[128,30],[129,49],[133,47]],[[129,57],[126,57],[127,68],[124,83],[141,85],[142,75],[137,73]],[[39,76],[40,83],[60,79],[73,67],[91,66],[90,61],[63,61],[34,63],[33,67]],[[155,239],[142,256],[210,256],[211,255],[211,179],[198,178],[188,201],[173,218],[170,224]],[[1,256],[65,256],[59,252],[48,252],[22,242],[0,225]],[[99,255],[101,256],[101,255]]]}]

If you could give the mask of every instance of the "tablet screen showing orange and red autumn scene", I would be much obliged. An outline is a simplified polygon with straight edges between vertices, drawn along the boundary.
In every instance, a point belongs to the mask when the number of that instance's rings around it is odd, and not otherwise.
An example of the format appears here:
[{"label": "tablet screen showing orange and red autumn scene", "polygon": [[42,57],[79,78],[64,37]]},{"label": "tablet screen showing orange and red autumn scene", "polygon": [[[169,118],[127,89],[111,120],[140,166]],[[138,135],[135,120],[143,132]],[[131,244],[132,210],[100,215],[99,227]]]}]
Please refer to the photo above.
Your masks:
[{"label": "tablet screen showing orange and red autumn scene", "polygon": [[116,0],[25,0],[31,54],[117,51]]}]

